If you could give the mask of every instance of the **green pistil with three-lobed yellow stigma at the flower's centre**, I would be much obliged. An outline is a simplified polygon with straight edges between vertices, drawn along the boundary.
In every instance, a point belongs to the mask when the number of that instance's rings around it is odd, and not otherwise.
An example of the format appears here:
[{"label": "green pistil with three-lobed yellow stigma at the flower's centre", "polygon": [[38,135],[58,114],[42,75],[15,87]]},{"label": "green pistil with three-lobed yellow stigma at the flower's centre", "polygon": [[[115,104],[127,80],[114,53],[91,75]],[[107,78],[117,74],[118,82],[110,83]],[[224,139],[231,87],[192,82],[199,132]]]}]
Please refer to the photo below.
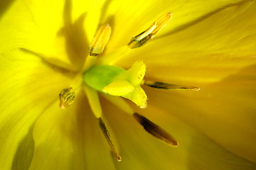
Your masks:
[{"label": "green pistil with three-lobed yellow stigma at the flower's centre", "polygon": [[95,65],[83,74],[83,80],[92,89],[112,96],[122,96],[140,108],[146,108],[147,97],[140,86],[145,72],[146,66],[142,61],[135,62],[128,70],[117,66]]}]

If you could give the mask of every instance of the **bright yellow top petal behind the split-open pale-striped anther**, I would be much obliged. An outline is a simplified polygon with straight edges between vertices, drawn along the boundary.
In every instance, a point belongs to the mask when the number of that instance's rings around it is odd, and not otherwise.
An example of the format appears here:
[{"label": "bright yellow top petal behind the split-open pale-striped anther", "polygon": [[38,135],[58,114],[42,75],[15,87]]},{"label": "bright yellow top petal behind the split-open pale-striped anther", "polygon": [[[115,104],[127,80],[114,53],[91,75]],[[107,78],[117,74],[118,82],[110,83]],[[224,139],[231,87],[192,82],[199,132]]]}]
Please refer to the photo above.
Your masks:
[{"label": "bright yellow top petal behind the split-open pale-striped anther", "polygon": [[113,26],[107,50],[127,45],[132,37],[142,33],[166,13],[173,12],[173,19],[159,35],[200,21],[209,13],[238,2],[240,1],[110,1],[106,3],[105,17],[101,21]]}]

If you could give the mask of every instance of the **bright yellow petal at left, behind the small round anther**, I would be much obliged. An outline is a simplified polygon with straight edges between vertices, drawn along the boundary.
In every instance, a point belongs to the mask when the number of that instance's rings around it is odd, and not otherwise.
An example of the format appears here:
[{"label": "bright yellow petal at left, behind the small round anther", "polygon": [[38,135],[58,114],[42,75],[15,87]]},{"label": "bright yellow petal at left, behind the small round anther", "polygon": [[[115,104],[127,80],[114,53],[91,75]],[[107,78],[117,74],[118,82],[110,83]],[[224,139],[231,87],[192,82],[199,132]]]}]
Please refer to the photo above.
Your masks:
[{"label": "bright yellow petal at left, behind the small round anther", "polygon": [[33,154],[28,151],[33,149],[28,133],[38,115],[58,99],[59,91],[71,84],[73,75],[24,50],[5,52],[0,61],[1,169],[11,169],[11,164],[28,167]]}]

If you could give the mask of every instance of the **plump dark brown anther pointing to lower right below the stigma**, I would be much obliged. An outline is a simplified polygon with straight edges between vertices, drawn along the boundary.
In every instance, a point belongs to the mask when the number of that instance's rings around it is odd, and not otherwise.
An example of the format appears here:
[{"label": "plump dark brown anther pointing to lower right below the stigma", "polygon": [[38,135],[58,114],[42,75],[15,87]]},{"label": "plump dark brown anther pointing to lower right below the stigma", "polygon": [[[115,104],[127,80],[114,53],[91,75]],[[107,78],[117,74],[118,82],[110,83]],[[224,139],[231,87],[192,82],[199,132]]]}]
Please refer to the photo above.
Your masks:
[{"label": "plump dark brown anther pointing to lower right below the stigma", "polygon": [[161,129],[158,125],[152,123],[143,115],[139,115],[139,113],[134,113],[134,118],[144,127],[147,132],[149,132],[154,137],[158,138],[163,142],[166,142],[172,147],[178,147],[178,142],[174,139],[174,137],[172,137],[165,130]]}]

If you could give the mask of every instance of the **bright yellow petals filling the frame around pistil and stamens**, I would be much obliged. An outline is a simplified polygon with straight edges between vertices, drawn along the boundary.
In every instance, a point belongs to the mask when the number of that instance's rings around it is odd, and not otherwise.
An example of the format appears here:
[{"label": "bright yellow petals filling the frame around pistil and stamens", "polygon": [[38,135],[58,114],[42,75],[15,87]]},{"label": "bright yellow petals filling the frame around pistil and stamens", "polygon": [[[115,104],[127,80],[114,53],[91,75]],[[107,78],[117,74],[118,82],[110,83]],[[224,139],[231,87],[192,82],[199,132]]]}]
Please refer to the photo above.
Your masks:
[{"label": "bright yellow petals filling the frame around pistil and stamens", "polygon": [[[255,1],[0,4],[1,169],[256,169]],[[169,12],[171,23],[153,40],[124,54],[132,38]],[[105,24],[112,34],[96,64],[129,69],[143,61],[146,81],[201,91],[142,85],[147,108],[127,100],[120,109],[102,95],[100,106],[90,105],[80,71],[95,62],[85,62],[88,47]],[[130,86],[123,80],[129,92],[143,82]],[[75,90],[73,104],[60,109],[58,94],[69,87]],[[90,88],[85,86],[89,101],[95,95]],[[95,113],[102,107],[122,162],[110,152],[90,107]],[[179,147],[151,137],[125,113],[129,109],[174,135]]]}]

